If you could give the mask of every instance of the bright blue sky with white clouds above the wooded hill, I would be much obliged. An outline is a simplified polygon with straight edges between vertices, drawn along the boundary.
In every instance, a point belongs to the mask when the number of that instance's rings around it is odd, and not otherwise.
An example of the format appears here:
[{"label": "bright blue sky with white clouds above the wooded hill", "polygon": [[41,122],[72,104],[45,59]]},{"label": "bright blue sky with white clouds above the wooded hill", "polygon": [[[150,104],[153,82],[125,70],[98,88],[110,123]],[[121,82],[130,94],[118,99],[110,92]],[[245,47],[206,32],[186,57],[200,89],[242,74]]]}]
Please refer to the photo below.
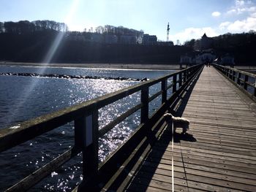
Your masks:
[{"label": "bright blue sky with white clouds above the wooded hill", "polygon": [[0,21],[55,20],[69,31],[124,26],[176,44],[256,31],[256,0],[0,0]]}]

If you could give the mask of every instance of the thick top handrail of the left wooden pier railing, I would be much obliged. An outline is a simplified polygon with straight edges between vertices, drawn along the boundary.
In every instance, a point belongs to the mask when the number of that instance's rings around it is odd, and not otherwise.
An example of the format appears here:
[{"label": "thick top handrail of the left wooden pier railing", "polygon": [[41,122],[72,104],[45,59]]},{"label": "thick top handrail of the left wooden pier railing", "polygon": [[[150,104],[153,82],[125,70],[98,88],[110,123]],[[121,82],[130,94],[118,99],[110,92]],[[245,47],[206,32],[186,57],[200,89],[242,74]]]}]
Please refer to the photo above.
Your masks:
[{"label": "thick top handrail of the left wooden pier railing", "polygon": [[[1,128],[0,152],[10,149],[15,145],[19,145],[20,143],[26,142],[29,139],[33,139],[34,137],[37,137],[40,134],[44,134],[45,132],[53,130],[54,128],[69,123],[70,121],[87,114],[88,111],[91,109],[99,109],[105,107],[106,105],[113,103],[114,101],[118,101],[119,99],[129,96],[132,93],[141,91],[145,87],[157,84],[162,80],[173,77],[173,75],[183,72],[184,70],[192,69],[193,67],[196,66],[192,66],[188,69],[183,69],[179,72],[168,74],[164,77],[159,77],[157,80],[141,82],[138,85],[133,85],[131,87],[124,88],[113,93],[108,93],[96,99],[85,101],[81,104],[72,107],[67,107],[64,110],[59,110],[57,112],[52,112],[48,115],[40,116],[39,118],[35,118],[34,120],[27,120],[23,123],[20,123],[20,125],[17,128],[14,128],[14,126],[8,128]],[[26,137],[24,137],[24,135]]]}]

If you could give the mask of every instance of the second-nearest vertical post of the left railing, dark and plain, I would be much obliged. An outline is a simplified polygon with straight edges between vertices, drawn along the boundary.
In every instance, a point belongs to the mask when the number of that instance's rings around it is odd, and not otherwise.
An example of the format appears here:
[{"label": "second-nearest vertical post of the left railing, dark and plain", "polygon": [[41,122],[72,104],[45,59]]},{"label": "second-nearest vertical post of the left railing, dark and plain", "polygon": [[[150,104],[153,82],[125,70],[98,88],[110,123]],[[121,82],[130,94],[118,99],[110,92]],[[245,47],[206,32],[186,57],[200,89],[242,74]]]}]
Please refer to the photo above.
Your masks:
[{"label": "second-nearest vertical post of the left railing, dark and plain", "polygon": [[146,123],[148,120],[148,86],[141,90],[141,115],[140,123]]}]

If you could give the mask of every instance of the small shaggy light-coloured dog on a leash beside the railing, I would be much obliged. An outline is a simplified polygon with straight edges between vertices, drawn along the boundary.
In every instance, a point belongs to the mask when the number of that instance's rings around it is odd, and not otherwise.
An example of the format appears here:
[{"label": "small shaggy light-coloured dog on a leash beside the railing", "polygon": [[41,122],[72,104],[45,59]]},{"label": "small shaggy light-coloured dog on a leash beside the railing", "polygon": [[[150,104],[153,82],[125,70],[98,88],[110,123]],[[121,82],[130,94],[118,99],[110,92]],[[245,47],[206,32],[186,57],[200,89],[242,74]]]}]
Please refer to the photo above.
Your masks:
[{"label": "small shaggy light-coloured dog on a leash beside the railing", "polygon": [[176,132],[176,128],[182,128],[181,134],[185,134],[189,129],[189,120],[187,120],[186,118],[174,117],[170,113],[165,113],[164,118],[167,123],[167,128],[171,128],[173,123],[174,133]]}]

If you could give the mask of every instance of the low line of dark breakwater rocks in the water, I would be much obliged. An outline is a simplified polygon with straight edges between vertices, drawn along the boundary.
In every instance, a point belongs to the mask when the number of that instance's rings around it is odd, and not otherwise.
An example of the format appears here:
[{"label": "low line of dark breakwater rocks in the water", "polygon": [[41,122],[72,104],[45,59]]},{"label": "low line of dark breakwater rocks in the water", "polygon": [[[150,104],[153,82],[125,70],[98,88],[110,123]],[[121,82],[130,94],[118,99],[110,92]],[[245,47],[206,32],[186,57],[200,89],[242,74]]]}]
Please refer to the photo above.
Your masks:
[{"label": "low line of dark breakwater rocks in the water", "polygon": [[127,77],[97,77],[97,76],[83,76],[83,75],[67,75],[67,74],[38,74],[38,73],[0,73],[0,75],[12,75],[23,77],[49,77],[59,79],[91,79],[91,80],[129,80],[129,81],[146,81],[146,77],[141,79],[127,78]]}]

